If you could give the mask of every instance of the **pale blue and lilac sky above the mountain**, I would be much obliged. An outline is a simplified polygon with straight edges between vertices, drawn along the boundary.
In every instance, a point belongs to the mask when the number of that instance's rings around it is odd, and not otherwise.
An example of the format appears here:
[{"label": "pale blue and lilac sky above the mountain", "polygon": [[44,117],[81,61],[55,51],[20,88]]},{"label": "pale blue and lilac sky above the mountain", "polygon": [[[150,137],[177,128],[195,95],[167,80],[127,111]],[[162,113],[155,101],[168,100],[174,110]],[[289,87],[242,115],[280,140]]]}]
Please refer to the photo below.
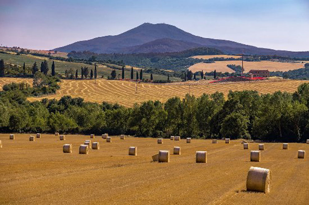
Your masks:
[{"label": "pale blue and lilac sky above the mountain", "polygon": [[309,51],[309,0],[0,0],[0,44],[40,50],[167,23],[193,35]]}]

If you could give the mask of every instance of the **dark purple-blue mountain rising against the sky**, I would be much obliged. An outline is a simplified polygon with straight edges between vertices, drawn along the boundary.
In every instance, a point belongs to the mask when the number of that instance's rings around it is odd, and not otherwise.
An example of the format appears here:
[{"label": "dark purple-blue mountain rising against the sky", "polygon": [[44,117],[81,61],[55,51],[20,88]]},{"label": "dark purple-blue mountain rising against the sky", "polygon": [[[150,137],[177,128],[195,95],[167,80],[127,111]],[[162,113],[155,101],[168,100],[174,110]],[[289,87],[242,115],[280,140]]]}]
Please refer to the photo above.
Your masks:
[{"label": "dark purple-blue mountain rising against the sky", "polygon": [[53,50],[64,52],[143,53],[183,51],[188,48],[201,46],[217,48],[226,54],[244,53],[250,55],[309,57],[309,51],[280,51],[245,45],[229,40],[203,38],[164,23],[144,23],[119,35],[78,41]]}]

